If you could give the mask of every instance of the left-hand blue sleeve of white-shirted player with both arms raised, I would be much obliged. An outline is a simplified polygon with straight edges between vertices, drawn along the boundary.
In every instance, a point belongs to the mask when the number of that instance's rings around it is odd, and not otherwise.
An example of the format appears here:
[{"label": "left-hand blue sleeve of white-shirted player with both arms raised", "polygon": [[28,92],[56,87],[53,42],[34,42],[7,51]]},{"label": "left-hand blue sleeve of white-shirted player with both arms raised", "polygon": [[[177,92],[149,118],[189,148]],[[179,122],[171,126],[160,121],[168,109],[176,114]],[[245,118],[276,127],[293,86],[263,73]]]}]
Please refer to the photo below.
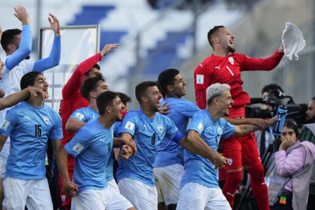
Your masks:
[{"label": "left-hand blue sleeve of white-shirted player with both arms raised", "polygon": [[22,26],[22,37],[20,41],[19,48],[5,60],[5,66],[7,69],[11,70],[22,60],[24,60],[28,55],[30,55],[32,50],[32,34],[31,26]]}]

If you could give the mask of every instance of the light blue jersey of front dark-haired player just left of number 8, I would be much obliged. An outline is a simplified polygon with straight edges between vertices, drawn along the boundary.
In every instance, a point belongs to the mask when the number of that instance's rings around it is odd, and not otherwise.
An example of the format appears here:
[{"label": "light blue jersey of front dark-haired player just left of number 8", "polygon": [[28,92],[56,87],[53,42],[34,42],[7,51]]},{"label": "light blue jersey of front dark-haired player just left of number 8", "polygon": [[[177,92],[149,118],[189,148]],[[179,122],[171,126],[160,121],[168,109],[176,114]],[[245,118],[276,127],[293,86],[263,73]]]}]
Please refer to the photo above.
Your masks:
[{"label": "light blue jersey of front dark-haired player just left of number 8", "polygon": [[103,127],[98,118],[90,120],[82,127],[64,149],[75,157],[73,182],[79,192],[87,189],[106,188],[106,163],[113,148],[113,130]]}]

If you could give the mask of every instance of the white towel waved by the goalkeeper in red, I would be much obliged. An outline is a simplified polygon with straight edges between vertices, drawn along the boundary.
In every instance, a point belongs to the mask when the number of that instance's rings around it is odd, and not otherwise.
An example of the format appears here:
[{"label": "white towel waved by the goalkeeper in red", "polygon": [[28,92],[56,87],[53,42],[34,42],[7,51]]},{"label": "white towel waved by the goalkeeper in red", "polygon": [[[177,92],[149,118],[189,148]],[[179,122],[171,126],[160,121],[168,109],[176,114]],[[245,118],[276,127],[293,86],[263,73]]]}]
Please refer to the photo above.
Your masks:
[{"label": "white towel waved by the goalkeeper in red", "polygon": [[305,47],[303,34],[294,24],[285,23],[285,29],[282,33],[282,44],[284,45],[284,55],[292,60],[298,60],[298,54]]}]

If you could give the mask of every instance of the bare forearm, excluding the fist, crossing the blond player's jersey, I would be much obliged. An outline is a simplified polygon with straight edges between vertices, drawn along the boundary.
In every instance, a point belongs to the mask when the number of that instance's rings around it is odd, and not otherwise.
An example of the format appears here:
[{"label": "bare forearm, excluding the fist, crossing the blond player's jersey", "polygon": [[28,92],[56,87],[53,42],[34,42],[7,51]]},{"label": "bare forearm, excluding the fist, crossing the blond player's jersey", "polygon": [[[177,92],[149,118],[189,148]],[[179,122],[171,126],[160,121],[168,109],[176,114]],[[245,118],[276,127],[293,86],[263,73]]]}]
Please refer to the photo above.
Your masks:
[{"label": "bare forearm, excluding the fist, crossing the blond player's jersey", "polygon": [[180,145],[194,154],[209,159],[211,162],[216,157],[216,151],[210,148],[194,130],[189,130],[188,137],[184,137]]}]

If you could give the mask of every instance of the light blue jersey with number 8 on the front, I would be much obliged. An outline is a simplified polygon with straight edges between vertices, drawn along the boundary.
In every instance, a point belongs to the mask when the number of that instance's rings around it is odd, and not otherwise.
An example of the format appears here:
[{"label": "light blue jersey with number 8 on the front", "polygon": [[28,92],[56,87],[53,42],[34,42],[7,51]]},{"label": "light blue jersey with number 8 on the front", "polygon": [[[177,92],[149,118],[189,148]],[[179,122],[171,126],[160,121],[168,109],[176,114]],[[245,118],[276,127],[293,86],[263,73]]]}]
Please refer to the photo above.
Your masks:
[{"label": "light blue jersey with number 8 on the front", "polygon": [[153,163],[164,136],[169,139],[175,137],[177,127],[174,122],[158,112],[151,119],[138,109],[126,115],[118,132],[131,134],[137,145],[137,153],[128,160],[119,159],[117,180],[132,178],[155,186]]}]

